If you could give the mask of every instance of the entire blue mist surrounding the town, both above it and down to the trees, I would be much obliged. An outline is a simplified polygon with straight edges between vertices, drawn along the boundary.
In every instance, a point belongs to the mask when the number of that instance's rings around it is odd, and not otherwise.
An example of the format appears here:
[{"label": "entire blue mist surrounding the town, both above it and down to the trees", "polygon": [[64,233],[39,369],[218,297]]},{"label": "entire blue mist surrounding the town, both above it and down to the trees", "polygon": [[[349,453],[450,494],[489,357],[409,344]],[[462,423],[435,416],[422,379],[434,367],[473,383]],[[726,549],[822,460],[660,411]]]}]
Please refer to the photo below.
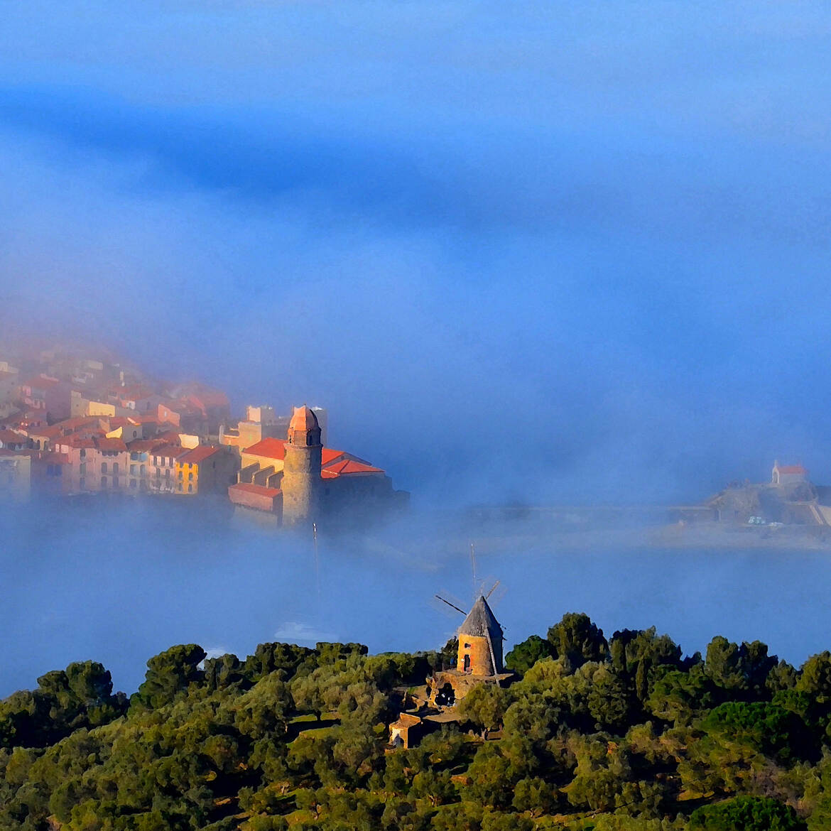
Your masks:
[{"label": "entire blue mist surrounding the town, both above it and down to the trees", "polygon": [[436,647],[470,538],[509,642],[581,610],[831,646],[824,554],[448,519],[831,482],[826,4],[75,5],[0,16],[0,342],[326,406],[413,513],[318,572],[191,504],[2,509],[0,694],[86,658],[130,691],[175,642]]}]

